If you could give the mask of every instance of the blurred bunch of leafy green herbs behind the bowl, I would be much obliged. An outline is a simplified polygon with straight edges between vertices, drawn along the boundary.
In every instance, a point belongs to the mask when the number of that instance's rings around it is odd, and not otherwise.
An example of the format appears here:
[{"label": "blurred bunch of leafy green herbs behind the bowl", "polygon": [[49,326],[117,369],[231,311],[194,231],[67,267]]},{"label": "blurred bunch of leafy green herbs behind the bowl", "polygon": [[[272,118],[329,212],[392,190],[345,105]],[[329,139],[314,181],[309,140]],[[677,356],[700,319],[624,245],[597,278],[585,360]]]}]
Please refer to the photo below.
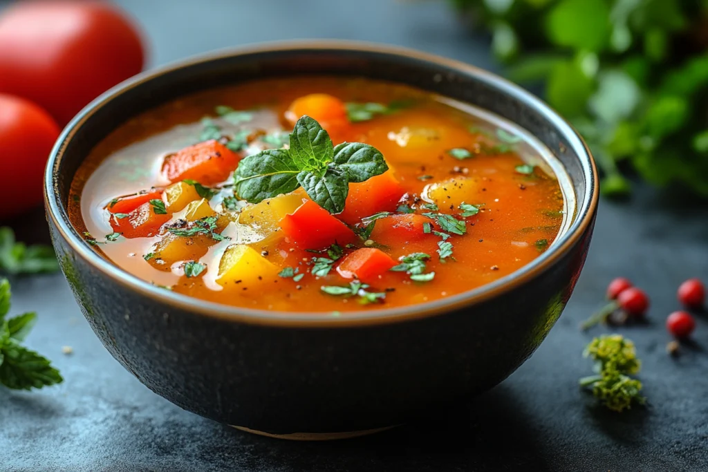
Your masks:
[{"label": "blurred bunch of leafy green herbs behind the bowl", "polygon": [[605,195],[626,161],[708,197],[708,0],[450,0],[593,149]]}]

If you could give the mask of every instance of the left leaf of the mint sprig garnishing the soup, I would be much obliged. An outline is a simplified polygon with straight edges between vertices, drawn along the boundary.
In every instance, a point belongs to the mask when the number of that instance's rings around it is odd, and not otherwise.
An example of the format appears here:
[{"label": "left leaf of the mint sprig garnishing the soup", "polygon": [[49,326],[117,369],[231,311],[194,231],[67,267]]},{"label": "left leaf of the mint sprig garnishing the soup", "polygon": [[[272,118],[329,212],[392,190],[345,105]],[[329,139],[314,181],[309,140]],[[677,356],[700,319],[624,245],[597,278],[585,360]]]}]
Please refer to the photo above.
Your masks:
[{"label": "left leaf of the mint sprig garnishing the soup", "polygon": [[299,168],[287,149],[265,149],[241,160],[234,175],[235,191],[241,199],[262,202],[299,187]]}]

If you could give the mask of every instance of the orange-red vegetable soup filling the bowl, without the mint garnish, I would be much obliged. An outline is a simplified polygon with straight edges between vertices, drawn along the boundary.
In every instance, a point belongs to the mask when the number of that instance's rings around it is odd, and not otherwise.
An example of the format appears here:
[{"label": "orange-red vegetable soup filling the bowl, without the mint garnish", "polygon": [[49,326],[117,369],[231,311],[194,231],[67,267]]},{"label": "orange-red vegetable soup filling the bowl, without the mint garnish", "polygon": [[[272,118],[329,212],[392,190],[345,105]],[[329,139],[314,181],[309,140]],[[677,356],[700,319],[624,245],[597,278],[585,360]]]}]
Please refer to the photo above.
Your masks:
[{"label": "orange-red vegetable soup filling the bowl, without the mint garnish", "polygon": [[[347,186],[337,163],[325,163],[324,180],[312,177],[326,197],[296,180],[282,195],[265,185],[253,197],[246,187],[267,179],[253,177],[254,159],[266,157],[246,156],[296,154],[288,133],[312,125],[302,115],[335,146],[369,145],[357,167],[365,175],[356,174],[365,180],[348,184],[343,212],[331,207]],[[69,205],[96,251],[156,286],[251,309],[338,314],[450,297],[546,251],[566,205],[539,152],[520,129],[408,87],[257,81],[126,122],[76,173]],[[241,180],[250,177],[236,184],[238,166]]]}]

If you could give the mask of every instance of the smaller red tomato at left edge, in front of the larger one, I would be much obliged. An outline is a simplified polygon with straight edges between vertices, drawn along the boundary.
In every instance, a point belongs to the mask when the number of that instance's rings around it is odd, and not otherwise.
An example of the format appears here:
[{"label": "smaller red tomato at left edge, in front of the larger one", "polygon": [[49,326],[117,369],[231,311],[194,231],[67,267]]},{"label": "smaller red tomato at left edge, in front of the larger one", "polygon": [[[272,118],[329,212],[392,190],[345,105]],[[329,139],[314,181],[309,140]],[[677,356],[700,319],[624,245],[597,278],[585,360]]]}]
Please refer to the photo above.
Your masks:
[{"label": "smaller red tomato at left edge, in front of the larger one", "polygon": [[42,108],[0,93],[0,219],[42,202],[42,175],[59,127]]}]

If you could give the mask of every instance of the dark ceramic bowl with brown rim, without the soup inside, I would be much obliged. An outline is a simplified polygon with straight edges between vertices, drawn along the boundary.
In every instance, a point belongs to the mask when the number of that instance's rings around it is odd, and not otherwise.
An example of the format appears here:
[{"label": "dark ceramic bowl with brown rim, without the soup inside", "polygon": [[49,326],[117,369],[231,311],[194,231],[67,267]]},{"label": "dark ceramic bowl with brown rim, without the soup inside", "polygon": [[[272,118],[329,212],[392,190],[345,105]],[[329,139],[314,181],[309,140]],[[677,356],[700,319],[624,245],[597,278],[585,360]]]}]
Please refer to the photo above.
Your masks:
[{"label": "dark ceramic bowl with brown rim, without the soup inside", "polygon": [[[479,289],[336,318],[239,309],[152,287],[101,258],[69,223],[76,168],[122,122],[204,88],[294,74],[396,81],[515,122],[548,146],[569,176],[576,208],[568,229],[532,263]],[[113,88],[62,133],[45,195],[64,274],[123,367],[198,415],[321,438],[398,425],[486,391],[519,367],[560,316],[583,267],[597,209],[595,172],[588,149],[561,117],[489,72],[396,47],[300,42],[217,52]]]}]

